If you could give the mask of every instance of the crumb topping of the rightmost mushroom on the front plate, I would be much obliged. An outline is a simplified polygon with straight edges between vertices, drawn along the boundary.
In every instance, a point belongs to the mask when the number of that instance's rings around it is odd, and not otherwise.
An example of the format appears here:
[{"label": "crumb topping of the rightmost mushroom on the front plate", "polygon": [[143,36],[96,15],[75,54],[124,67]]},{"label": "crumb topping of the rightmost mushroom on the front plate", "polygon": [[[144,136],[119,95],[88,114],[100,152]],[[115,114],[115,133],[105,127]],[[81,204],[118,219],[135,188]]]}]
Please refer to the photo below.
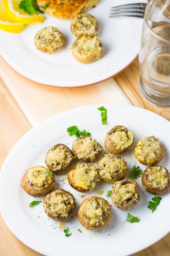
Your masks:
[{"label": "crumb topping of the rightmost mushroom on the front plate", "polygon": [[148,185],[154,188],[164,189],[168,185],[167,172],[162,166],[148,167],[146,175]]}]

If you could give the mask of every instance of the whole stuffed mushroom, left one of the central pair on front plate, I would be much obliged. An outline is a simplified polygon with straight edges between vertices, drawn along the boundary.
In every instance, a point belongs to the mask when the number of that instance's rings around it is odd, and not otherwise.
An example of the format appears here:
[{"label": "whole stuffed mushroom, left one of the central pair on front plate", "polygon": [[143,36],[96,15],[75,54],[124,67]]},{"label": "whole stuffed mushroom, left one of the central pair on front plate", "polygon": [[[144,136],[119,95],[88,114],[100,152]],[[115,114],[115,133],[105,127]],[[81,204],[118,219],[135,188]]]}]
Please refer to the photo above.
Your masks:
[{"label": "whole stuffed mushroom, left one of the central pair on front plate", "polygon": [[91,163],[82,163],[68,173],[68,181],[71,187],[80,192],[92,191],[97,181],[100,181],[99,173]]}]

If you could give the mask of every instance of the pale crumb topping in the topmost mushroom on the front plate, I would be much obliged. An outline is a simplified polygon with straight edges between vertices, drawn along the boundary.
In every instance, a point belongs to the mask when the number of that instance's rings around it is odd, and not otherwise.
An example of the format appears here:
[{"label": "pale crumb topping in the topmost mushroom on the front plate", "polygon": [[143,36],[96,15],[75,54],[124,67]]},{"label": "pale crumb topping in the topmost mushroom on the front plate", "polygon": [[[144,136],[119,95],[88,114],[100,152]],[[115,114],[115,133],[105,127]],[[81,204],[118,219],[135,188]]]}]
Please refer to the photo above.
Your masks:
[{"label": "pale crumb topping in the topmost mushroom on the front plate", "polygon": [[111,133],[110,140],[114,143],[117,149],[123,149],[130,146],[133,142],[133,134],[131,131],[125,133],[124,131],[115,131]]}]

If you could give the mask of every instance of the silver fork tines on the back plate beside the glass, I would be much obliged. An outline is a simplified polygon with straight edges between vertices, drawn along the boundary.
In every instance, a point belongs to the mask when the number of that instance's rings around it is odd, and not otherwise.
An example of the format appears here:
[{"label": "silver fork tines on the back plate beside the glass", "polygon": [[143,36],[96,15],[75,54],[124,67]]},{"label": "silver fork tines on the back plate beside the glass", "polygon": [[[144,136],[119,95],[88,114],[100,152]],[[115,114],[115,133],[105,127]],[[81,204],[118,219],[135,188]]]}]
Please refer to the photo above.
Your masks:
[{"label": "silver fork tines on the back plate beside the glass", "polygon": [[109,17],[137,17],[143,18],[146,3],[132,3],[127,5],[118,5],[111,7]]}]

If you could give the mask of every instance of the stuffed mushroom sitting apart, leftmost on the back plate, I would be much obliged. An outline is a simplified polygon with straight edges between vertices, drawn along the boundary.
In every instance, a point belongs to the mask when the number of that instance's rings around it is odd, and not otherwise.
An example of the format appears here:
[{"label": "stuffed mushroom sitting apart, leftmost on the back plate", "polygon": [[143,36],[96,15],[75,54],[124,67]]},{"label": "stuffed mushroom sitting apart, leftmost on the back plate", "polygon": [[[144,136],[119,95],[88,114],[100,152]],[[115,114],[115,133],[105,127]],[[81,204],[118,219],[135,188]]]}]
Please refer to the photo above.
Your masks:
[{"label": "stuffed mushroom sitting apart, leftmost on the back plate", "polygon": [[48,26],[42,28],[34,38],[34,44],[39,51],[55,53],[63,49],[63,34],[58,28]]}]

